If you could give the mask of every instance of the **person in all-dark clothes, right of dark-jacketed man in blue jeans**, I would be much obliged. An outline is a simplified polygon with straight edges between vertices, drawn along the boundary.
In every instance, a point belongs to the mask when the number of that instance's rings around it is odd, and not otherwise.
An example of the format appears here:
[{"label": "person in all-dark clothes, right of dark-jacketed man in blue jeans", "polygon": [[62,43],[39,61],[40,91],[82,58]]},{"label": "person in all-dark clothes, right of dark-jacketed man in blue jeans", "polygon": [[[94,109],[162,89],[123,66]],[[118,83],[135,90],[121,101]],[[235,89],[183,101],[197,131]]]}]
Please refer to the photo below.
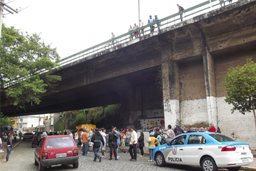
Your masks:
[{"label": "person in all-dark clothes, right of dark-jacketed man in blue jeans", "polygon": [[111,127],[111,132],[107,135],[107,146],[110,149],[110,155],[109,155],[109,160],[112,160],[112,154],[114,152],[114,157],[115,160],[117,159],[117,134],[115,132],[115,127]]}]

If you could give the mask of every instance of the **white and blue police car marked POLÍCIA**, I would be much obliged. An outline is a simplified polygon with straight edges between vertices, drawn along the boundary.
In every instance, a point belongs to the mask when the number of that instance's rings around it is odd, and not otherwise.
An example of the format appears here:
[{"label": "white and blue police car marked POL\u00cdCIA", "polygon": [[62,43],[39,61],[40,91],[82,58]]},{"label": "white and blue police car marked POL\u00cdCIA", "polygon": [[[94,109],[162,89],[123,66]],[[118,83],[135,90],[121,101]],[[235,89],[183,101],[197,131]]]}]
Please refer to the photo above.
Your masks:
[{"label": "white and blue police car marked POL\u00cdCIA", "polygon": [[254,162],[249,144],[213,132],[177,135],[167,144],[156,147],[153,159],[160,167],[166,163],[192,165],[204,171],[215,171],[218,167],[240,170],[242,165]]}]

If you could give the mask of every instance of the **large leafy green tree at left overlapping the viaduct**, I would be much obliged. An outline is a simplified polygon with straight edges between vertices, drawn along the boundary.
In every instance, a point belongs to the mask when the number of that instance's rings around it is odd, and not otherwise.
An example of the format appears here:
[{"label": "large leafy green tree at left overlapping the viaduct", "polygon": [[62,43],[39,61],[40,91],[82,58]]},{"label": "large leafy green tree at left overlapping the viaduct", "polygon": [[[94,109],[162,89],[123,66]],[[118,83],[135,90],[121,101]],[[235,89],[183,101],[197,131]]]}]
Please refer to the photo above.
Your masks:
[{"label": "large leafy green tree at left overlapping the viaduct", "polygon": [[39,104],[41,95],[61,81],[54,75],[59,69],[59,55],[51,44],[44,44],[40,34],[29,36],[2,24],[0,42],[1,96],[24,108]]}]

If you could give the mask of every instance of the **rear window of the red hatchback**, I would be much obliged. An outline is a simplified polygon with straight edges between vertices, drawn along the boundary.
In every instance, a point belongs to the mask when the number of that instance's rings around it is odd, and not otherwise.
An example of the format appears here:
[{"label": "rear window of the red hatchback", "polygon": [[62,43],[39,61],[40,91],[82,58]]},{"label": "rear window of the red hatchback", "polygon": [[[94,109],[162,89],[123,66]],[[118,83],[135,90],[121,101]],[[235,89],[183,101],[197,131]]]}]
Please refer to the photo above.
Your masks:
[{"label": "rear window of the red hatchback", "polygon": [[54,137],[48,138],[46,141],[46,149],[57,149],[64,147],[74,147],[72,137]]}]

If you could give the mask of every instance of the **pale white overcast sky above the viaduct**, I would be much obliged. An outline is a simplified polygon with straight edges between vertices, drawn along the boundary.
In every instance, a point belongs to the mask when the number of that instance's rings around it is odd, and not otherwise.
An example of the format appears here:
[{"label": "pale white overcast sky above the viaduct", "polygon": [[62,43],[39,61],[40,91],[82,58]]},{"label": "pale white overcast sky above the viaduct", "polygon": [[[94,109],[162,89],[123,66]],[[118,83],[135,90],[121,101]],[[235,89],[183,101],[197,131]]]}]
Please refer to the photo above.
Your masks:
[{"label": "pale white overcast sky above the viaduct", "polygon": [[[187,9],[205,1],[140,0],[140,19],[145,25],[150,15],[157,15],[162,19],[178,12],[177,4]],[[14,26],[21,32],[28,32],[29,35],[41,33],[46,44],[57,48],[61,59],[111,39],[111,32],[116,36],[124,34],[128,32],[130,25],[139,23],[138,0],[4,2],[18,11],[22,9],[18,14],[4,11],[4,24],[7,27]]]}]

